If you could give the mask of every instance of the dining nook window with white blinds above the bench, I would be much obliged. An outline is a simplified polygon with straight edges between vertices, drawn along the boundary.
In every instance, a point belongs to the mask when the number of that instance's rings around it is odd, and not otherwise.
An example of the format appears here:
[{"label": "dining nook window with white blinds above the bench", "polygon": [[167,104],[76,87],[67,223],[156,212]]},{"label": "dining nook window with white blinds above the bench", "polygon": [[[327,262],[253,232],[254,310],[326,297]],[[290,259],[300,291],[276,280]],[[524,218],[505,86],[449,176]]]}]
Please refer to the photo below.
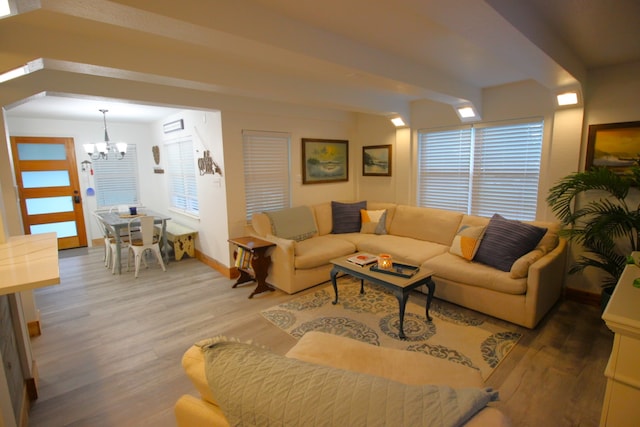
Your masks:
[{"label": "dining nook window with white blinds above the bench", "polygon": [[198,185],[196,164],[193,157],[193,141],[181,138],[165,143],[167,150],[167,180],[169,206],[180,212],[198,216]]}]

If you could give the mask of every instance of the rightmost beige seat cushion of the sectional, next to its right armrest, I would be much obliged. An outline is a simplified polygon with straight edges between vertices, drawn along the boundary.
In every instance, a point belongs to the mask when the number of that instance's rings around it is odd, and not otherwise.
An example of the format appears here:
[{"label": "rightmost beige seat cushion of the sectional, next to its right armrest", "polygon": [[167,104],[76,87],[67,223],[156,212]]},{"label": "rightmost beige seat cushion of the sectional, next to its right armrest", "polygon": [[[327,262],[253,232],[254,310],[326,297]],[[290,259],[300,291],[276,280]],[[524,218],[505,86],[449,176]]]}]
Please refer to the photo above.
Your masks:
[{"label": "rightmost beige seat cushion of the sectional, next to its right armrest", "polygon": [[[425,268],[436,271],[435,277],[464,283],[468,286],[491,289],[506,294],[522,295],[527,292],[527,279],[512,279],[509,272],[504,272],[488,265],[467,261],[452,253],[430,258],[422,264]],[[438,289],[436,287],[436,296]]]}]

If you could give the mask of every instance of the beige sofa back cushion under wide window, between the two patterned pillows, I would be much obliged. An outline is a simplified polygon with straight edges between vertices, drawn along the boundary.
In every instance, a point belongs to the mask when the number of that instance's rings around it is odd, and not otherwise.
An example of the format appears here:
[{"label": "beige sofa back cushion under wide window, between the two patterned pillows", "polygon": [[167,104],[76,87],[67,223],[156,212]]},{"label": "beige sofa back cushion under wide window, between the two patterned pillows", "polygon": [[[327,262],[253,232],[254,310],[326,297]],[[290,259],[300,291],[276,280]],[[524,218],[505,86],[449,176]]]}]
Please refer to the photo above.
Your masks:
[{"label": "beige sofa back cushion under wide window, between the two patterned pillows", "polygon": [[442,209],[398,205],[387,232],[450,246],[462,216]]}]

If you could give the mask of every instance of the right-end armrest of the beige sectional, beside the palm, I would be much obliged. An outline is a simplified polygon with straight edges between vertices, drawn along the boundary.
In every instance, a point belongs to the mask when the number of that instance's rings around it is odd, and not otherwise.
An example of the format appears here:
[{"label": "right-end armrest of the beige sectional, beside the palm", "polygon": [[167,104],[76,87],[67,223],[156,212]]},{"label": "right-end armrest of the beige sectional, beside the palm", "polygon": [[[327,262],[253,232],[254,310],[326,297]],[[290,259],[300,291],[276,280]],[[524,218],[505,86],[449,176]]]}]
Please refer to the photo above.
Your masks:
[{"label": "right-end armrest of the beige sectional, beside the palm", "polygon": [[535,327],[562,295],[566,264],[567,241],[560,239],[558,246],[529,267],[526,326]]}]

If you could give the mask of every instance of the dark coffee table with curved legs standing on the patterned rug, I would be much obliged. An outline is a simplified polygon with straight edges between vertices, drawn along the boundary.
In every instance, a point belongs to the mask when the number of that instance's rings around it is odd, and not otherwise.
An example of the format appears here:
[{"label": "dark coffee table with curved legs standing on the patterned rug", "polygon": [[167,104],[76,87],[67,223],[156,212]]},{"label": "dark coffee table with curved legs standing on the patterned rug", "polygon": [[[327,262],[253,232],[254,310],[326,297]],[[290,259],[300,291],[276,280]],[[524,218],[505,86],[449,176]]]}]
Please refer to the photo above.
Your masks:
[{"label": "dark coffee table with curved legs standing on the patterned rug", "polygon": [[409,299],[409,294],[412,290],[425,285],[429,289],[429,294],[427,295],[427,306],[425,309],[425,314],[428,321],[431,321],[431,316],[429,316],[429,307],[431,306],[431,301],[433,300],[433,294],[436,290],[436,284],[431,280],[431,276],[433,275],[433,271],[421,267],[420,270],[414,274],[413,276],[406,278],[395,276],[387,273],[379,273],[376,271],[370,270],[370,265],[360,267],[356,264],[353,264],[347,261],[347,258],[353,256],[345,256],[341,258],[336,258],[331,260],[331,264],[333,264],[333,268],[331,269],[331,284],[333,285],[333,291],[336,293],[336,299],[333,301],[333,304],[338,303],[338,284],[336,283],[336,278],[338,273],[345,273],[350,276],[356,277],[360,279],[360,293],[364,293],[364,281],[368,280],[371,283],[378,284],[386,289],[389,289],[393,295],[398,299],[398,305],[400,308],[400,339],[406,339],[406,335],[404,334],[403,324],[404,324],[404,311],[407,306],[407,300]]}]

